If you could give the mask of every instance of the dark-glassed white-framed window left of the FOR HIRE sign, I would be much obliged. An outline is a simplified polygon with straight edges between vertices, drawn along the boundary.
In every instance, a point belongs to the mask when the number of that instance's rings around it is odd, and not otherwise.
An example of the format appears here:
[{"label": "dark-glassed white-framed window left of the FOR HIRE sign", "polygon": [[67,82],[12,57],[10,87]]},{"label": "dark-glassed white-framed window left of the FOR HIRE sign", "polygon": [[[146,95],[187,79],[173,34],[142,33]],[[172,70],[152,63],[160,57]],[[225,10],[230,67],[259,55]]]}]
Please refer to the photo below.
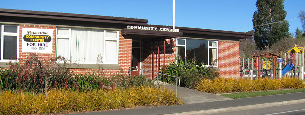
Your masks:
[{"label": "dark-glassed white-framed window left of the FOR HIRE sign", "polygon": [[1,38],[1,62],[9,62],[10,59],[18,57],[19,48],[19,26],[16,25],[0,25]]}]

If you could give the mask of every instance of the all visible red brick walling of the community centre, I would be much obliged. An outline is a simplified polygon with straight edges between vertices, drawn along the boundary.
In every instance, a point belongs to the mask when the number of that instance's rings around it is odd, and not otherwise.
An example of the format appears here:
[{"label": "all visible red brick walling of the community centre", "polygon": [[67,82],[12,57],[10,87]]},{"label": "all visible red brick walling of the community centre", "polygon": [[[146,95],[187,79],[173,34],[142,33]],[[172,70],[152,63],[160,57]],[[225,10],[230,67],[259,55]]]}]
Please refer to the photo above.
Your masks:
[{"label": "all visible red brick walling of the community centre", "polygon": [[[41,58],[48,59],[49,57],[55,58],[56,48],[56,27],[47,25],[20,25],[20,38],[19,38],[19,58],[26,59],[30,53],[22,52],[22,28],[42,28],[53,29],[53,51],[52,53],[37,53]],[[174,39],[176,42],[176,38]],[[154,64],[155,72],[158,72],[159,67],[163,67],[163,41],[159,41],[159,55],[158,55],[158,40],[142,40],[141,42],[141,68],[152,71],[152,64]],[[152,45],[153,44],[153,45]],[[165,42],[165,64],[175,62],[177,55],[177,47],[172,48],[171,39]],[[218,42],[218,68],[221,77],[238,78],[238,55],[239,55],[239,42],[238,41],[219,41]],[[152,57],[154,51],[154,57]],[[154,58],[154,62],[152,62]],[[160,60],[160,64],[158,63]],[[124,73],[128,74],[128,67],[131,66],[131,36],[122,36],[119,32],[119,66],[123,69]],[[71,69],[71,71],[78,74],[93,73],[92,69]],[[97,71],[97,70],[95,70]],[[120,70],[104,69],[103,72],[106,76],[119,72]],[[152,78],[150,72],[143,72],[147,78]]]}]

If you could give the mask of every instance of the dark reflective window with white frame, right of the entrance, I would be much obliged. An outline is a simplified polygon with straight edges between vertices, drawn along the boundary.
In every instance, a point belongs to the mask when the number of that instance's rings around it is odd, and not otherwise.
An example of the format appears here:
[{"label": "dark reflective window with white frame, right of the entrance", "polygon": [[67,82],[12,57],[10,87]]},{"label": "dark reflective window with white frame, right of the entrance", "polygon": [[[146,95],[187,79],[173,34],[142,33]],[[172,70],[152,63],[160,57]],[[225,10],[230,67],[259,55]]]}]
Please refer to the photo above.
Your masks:
[{"label": "dark reflective window with white frame, right of the entrance", "polygon": [[[191,60],[211,65],[217,59],[218,41],[200,39],[177,39],[177,53],[182,59]],[[216,64],[214,64],[217,66]]]}]

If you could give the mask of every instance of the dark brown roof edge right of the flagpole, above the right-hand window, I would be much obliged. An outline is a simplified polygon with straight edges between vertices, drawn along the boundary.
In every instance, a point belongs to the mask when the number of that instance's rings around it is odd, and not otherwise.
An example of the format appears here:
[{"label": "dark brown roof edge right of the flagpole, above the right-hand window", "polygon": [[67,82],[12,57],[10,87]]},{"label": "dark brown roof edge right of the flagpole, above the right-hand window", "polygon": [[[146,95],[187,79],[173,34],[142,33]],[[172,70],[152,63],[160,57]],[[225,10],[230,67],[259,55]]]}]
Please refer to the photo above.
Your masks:
[{"label": "dark brown roof edge right of the flagpole, above the right-hand window", "polygon": [[[145,25],[149,27],[158,27],[158,28],[173,28],[172,26],[164,25]],[[211,30],[211,29],[201,29],[201,28],[187,28],[187,27],[175,27],[175,29],[180,29],[180,32],[183,33],[193,33],[193,34],[203,34],[203,35],[220,35],[220,36],[232,36],[239,37],[240,39],[251,38],[252,33],[246,32],[235,32],[235,31],[222,31],[222,30]]]}]

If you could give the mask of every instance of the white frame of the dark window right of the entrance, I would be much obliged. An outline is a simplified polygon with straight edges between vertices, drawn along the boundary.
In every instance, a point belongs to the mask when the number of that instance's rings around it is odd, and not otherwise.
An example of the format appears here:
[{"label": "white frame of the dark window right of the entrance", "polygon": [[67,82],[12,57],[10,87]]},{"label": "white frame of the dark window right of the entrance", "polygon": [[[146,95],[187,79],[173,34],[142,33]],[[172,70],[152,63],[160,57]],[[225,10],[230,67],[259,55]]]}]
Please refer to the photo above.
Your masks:
[{"label": "white frame of the dark window right of the entrance", "polygon": [[[178,40],[184,40],[184,45],[178,44]],[[210,46],[210,42],[216,42],[216,47]],[[208,45],[208,54],[207,54],[207,56],[208,56],[207,64],[208,65],[205,65],[205,66],[210,66],[210,57],[209,57],[210,56],[210,48],[216,48],[216,59],[218,59],[218,41],[208,40],[208,44],[207,45]],[[184,47],[184,49],[185,49],[184,55],[186,57],[186,39],[184,39],[184,38],[177,38],[177,47],[178,46]],[[177,48],[177,53],[178,53],[178,48]],[[216,62],[216,65],[214,65],[213,67],[218,67],[218,60]]]}]

